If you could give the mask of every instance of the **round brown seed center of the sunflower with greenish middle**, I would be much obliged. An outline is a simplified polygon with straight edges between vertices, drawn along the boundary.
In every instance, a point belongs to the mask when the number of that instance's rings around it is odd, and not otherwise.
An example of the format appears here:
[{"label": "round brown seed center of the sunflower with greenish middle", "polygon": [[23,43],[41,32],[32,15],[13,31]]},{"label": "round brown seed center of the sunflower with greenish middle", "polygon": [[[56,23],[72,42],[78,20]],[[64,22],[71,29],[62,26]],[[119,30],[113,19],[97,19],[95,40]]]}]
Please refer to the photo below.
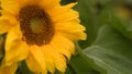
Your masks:
[{"label": "round brown seed center of the sunflower with greenish middle", "polygon": [[28,45],[46,45],[54,36],[50,15],[37,5],[26,5],[19,12],[20,28]]}]

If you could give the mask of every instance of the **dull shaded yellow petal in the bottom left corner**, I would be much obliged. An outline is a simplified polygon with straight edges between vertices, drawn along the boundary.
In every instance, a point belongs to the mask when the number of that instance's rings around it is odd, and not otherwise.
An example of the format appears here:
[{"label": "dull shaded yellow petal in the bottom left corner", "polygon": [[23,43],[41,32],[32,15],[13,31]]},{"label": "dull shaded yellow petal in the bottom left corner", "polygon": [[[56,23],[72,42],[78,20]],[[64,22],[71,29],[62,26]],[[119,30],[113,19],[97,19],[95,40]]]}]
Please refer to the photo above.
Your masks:
[{"label": "dull shaded yellow petal in the bottom left corner", "polygon": [[10,66],[1,66],[0,67],[0,74],[15,74],[15,71],[18,69],[18,64],[12,64]]}]

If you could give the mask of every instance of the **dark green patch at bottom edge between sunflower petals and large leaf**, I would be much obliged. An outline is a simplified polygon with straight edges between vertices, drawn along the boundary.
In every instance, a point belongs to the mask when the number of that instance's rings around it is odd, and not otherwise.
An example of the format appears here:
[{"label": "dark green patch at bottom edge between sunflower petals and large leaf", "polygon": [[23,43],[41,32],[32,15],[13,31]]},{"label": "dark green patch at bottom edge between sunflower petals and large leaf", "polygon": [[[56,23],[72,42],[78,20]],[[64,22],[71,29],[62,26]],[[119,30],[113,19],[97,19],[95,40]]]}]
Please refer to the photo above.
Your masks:
[{"label": "dark green patch at bottom edge between sunflower petals and large leaf", "polygon": [[90,66],[89,61],[87,61],[84,57],[77,54],[72,58],[66,74],[99,74],[99,73]]}]

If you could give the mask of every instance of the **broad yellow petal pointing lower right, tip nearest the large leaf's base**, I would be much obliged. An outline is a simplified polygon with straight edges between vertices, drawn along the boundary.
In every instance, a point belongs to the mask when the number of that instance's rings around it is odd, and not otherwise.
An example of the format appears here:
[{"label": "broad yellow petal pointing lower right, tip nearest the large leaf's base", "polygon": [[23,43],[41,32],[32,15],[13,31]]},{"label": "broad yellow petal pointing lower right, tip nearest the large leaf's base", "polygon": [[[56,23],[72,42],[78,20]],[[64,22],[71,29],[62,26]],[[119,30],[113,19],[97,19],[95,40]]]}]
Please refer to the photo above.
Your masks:
[{"label": "broad yellow petal pointing lower right, tip nearest the large leaf's base", "polygon": [[54,48],[54,50],[66,55],[68,60],[70,59],[70,55],[75,53],[74,42],[72,42],[69,39],[65,38],[62,35],[56,34],[53,40],[51,41],[51,45]]}]

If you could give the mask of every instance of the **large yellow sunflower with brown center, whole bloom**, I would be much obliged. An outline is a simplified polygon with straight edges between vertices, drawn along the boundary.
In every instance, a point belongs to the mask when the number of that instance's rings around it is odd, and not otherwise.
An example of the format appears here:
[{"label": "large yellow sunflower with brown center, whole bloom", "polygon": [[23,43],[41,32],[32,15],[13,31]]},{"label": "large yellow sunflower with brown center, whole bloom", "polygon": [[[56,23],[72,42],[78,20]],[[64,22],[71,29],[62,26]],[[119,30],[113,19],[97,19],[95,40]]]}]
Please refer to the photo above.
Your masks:
[{"label": "large yellow sunflower with brown center, whole bloom", "polygon": [[34,73],[65,73],[75,53],[74,41],[85,40],[79,14],[61,0],[1,0],[0,34],[7,33],[0,72],[14,74],[25,61]]}]

